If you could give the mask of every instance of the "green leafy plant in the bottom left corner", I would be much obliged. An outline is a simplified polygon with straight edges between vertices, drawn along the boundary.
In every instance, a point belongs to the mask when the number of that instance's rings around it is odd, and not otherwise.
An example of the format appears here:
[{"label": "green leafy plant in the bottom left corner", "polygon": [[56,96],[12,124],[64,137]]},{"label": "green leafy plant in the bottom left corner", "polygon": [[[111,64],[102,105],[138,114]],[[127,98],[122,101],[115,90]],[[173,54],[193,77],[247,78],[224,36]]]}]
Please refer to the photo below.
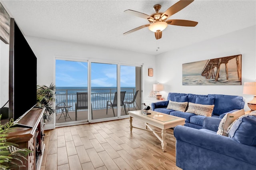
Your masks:
[{"label": "green leafy plant in the bottom left corner", "polygon": [[[1,117],[2,115],[0,119]],[[24,166],[22,160],[26,160],[26,156],[32,152],[26,148],[20,149],[17,144],[6,141],[8,132],[15,128],[14,125],[13,119],[4,125],[0,121],[0,170]]]}]

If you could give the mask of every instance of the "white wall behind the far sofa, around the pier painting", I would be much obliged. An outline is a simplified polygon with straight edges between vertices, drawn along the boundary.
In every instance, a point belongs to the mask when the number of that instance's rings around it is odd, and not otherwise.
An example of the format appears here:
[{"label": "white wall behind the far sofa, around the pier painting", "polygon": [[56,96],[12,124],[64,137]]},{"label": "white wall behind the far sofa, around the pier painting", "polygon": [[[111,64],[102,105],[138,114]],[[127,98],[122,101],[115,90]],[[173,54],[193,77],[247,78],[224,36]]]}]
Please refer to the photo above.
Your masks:
[{"label": "white wall behind the far sofa, around the pier painting", "polygon": [[[182,85],[182,64],[242,54],[242,85]],[[157,80],[164,83],[162,95],[169,92],[193,94],[243,95],[243,84],[256,80],[256,27],[251,26],[200,43],[156,56]],[[245,109],[249,110],[247,103]]]}]

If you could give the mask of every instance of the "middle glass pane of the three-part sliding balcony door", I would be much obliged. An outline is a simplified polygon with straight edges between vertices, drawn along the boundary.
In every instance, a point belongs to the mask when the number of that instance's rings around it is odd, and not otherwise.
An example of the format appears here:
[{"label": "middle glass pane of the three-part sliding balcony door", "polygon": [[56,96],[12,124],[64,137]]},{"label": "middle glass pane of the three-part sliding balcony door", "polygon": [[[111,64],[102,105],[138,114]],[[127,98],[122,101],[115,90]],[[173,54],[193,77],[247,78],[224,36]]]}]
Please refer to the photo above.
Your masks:
[{"label": "middle glass pane of the three-part sliding balcony door", "polygon": [[92,119],[117,117],[117,65],[91,63]]}]

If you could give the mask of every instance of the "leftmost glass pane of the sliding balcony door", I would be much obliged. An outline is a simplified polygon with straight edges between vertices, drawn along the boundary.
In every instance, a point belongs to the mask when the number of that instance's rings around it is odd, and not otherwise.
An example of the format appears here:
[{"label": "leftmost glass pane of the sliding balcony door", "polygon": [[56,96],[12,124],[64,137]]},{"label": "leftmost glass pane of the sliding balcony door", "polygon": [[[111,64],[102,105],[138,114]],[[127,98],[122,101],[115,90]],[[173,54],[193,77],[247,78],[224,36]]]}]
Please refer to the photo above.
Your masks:
[{"label": "leftmost glass pane of the sliding balcony door", "polygon": [[88,63],[56,59],[56,125],[88,121]]}]

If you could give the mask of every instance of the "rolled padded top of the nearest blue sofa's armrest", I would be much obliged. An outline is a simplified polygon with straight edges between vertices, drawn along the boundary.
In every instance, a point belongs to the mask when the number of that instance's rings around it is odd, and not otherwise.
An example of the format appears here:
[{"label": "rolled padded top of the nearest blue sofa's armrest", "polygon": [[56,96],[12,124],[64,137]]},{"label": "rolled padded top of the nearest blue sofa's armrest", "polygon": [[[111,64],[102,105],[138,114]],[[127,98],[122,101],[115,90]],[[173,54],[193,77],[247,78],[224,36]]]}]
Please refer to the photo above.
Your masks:
[{"label": "rolled padded top of the nearest blue sofa's armrest", "polygon": [[[241,144],[240,142],[237,142],[227,136],[209,133],[200,129],[185,127],[181,125],[178,125],[174,128],[174,136],[177,142],[180,140],[182,142],[188,143],[189,145],[191,144],[191,146],[205,148],[206,150],[216,152],[220,154],[219,156],[223,154],[256,166],[256,146],[248,146],[246,144]],[[179,152],[178,149],[179,148],[176,146],[176,152]],[[190,155],[189,152],[195,152],[195,150],[189,148],[187,151],[188,153],[183,154]],[[203,158],[209,153],[201,152],[200,154],[202,154],[200,156]]]}]

